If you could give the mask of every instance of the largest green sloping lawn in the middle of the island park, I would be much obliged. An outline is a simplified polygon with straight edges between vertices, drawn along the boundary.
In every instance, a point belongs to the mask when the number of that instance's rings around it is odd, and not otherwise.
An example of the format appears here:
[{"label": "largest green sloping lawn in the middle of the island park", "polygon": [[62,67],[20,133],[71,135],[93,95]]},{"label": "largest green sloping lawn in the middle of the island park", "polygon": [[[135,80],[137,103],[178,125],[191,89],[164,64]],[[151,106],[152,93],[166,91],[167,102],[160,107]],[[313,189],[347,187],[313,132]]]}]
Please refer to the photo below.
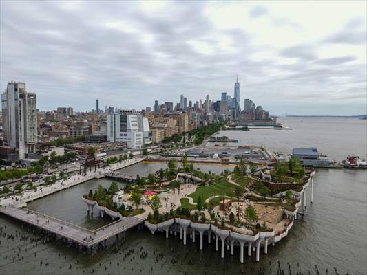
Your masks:
[{"label": "largest green sloping lawn in the middle of the island park", "polygon": [[196,202],[199,196],[201,196],[202,201],[204,202],[207,198],[214,195],[227,195],[234,197],[234,189],[235,185],[230,184],[228,181],[222,180],[218,181],[211,186],[199,186],[196,188],[196,191],[191,193],[189,197],[193,198],[193,201]]}]

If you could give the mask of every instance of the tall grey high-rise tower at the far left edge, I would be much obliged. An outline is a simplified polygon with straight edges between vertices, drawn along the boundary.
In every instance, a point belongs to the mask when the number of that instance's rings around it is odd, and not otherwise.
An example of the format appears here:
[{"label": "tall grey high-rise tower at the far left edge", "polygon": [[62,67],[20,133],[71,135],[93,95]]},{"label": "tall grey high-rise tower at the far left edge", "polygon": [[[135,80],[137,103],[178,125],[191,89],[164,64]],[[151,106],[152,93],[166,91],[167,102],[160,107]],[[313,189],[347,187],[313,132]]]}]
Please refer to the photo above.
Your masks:
[{"label": "tall grey high-rise tower at the far left edge", "polygon": [[25,83],[10,82],[1,94],[1,107],[3,142],[17,149],[19,159],[25,159],[36,151],[36,94],[28,93]]}]

